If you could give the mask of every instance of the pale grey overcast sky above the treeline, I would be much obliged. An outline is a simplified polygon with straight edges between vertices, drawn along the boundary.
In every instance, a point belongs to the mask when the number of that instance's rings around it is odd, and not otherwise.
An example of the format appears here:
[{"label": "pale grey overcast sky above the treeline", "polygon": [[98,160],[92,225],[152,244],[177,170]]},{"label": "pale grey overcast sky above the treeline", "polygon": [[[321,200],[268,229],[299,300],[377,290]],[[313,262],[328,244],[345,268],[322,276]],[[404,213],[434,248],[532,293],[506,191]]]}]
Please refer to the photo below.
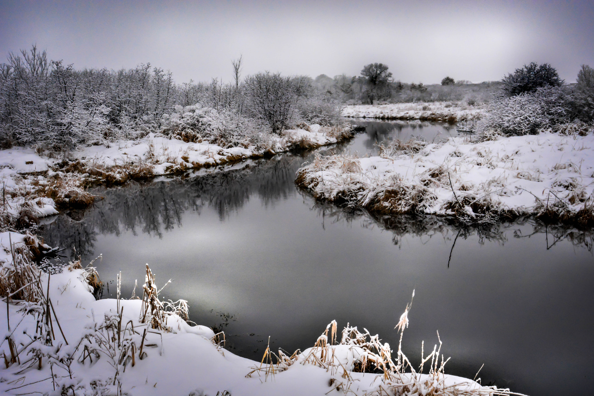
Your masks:
[{"label": "pale grey overcast sky above the treeline", "polygon": [[32,43],[75,68],[169,69],[177,83],[244,75],[358,75],[403,82],[500,80],[548,62],[568,83],[594,66],[594,1],[7,1],[0,62]]}]

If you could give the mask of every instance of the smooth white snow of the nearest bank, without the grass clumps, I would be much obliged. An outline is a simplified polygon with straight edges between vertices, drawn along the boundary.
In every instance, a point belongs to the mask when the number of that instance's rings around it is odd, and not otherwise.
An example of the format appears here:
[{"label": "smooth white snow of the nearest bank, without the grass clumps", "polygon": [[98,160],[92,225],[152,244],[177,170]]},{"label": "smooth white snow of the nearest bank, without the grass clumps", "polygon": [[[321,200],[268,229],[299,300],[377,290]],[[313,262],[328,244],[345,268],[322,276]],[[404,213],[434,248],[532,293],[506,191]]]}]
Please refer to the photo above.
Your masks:
[{"label": "smooth white snow of the nearest bank, without the grass clumps", "polygon": [[[20,246],[24,243],[23,235],[0,233],[2,271],[14,268],[9,237],[12,243]],[[78,396],[160,396],[191,395],[194,392],[195,395],[214,396],[217,392],[228,391],[233,396],[322,396],[332,390],[341,390],[345,394],[362,395],[391,384],[411,382],[415,382],[423,394],[431,387],[455,384],[459,391],[473,390],[473,394],[485,395],[492,392],[492,389],[469,379],[443,373],[416,376],[403,373],[390,382],[383,375],[352,372],[355,359],[371,356],[369,351],[356,345],[361,338],[350,339],[350,345],[306,349],[295,359],[287,358],[286,364],[273,366],[273,374],[266,372],[266,364],[244,359],[217,346],[210,328],[190,326],[175,313],[166,315],[166,325],[171,331],[159,331],[141,322],[141,300],[95,300],[91,294],[93,287],[87,282],[87,273],[83,269],[71,265],[59,274],[41,273],[39,279],[44,295],[45,290],[49,290],[49,299],[55,309],[52,314],[55,337],[50,336],[52,340],[47,344],[31,338],[38,327],[36,316],[31,313],[45,307],[45,297],[40,303],[17,300],[7,305],[10,328],[7,315],[0,315],[0,332],[14,341],[19,362],[9,363],[8,368],[2,365],[0,369],[0,390],[5,394],[60,395],[72,392]],[[25,313],[25,308],[30,313]],[[105,330],[106,325],[118,322],[118,315],[121,315],[119,327],[125,330],[114,330],[118,325]],[[144,330],[147,330],[146,338],[142,341]],[[51,334],[50,330],[48,334]],[[320,339],[327,340],[327,336],[322,335]],[[97,340],[105,341],[102,347]],[[132,344],[135,349],[130,353],[125,346]],[[140,359],[141,345],[143,359]],[[389,350],[387,344],[383,347]],[[10,345],[6,339],[0,345],[0,353],[10,359]],[[134,366],[131,354],[135,357]],[[39,356],[42,356],[41,366]],[[118,363],[120,356],[123,360]]]}]

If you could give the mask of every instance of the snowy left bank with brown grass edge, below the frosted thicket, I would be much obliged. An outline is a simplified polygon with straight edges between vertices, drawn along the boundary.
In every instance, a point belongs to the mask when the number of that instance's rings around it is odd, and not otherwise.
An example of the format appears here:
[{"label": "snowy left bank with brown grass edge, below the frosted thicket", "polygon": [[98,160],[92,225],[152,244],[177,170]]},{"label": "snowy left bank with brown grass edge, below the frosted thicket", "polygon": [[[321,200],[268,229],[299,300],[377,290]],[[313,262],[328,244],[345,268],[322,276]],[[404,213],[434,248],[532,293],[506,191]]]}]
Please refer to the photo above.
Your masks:
[{"label": "snowy left bank with brown grass edge, below the frosted thicket", "polygon": [[[179,175],[191,170],[238,163],[302,148],[336,144],[353,136],[350,126],[290,129],[269,135],[260,148],[222,148],[208,142],[185,142],[148,134],[134,141],[90,145],[68,159],[49,158],[33,148],[0,151],[2,206],[0,227],[27,227],[36,218],[56,214],[56,207],[84,207],[94,199],[84,187],[117,185],[130,179]],[[266,147],[264,150],[262,147]]]}]

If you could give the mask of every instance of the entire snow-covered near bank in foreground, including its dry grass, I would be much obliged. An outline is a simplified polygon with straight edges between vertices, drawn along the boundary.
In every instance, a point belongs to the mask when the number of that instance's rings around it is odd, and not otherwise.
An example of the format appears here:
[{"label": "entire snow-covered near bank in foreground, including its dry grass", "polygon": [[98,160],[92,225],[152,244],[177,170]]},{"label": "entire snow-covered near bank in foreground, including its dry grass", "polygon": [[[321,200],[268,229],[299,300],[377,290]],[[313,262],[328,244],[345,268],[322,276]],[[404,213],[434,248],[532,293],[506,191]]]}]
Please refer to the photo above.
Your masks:
[{"label": "entire snow-covered near bank in foreground, including its dry grass", "polygon": [[[377,335],[352,327],[337,337],[336,322],[302,353],[279,351],[272,360],[267,354],[263,363],[244,359],[220,347],[210,328],[188,325],[179,316],[184,302],[160,302],[148,269],[136,293],[141,299],[95,300],[92,269],[79,262],[61,273],[41,273],[25,257],[26,245],[35,243],[30,236],[0,233],[0,292],[5,302],[11,294],[7,315],[0,315],[5,335],[0,389],[5,394],[507,394],[444,375],[443,358],[431,359],[439,350],[425,362],[428,374],[411,372],[400,350],[392,359],[390,346]],[[179,315],[174,306],[181,308]],[[401,331],[408,325],[408,309],[400,318]],[[385,373],[357,372],[365,362],[371,368],[377,362]]]}]

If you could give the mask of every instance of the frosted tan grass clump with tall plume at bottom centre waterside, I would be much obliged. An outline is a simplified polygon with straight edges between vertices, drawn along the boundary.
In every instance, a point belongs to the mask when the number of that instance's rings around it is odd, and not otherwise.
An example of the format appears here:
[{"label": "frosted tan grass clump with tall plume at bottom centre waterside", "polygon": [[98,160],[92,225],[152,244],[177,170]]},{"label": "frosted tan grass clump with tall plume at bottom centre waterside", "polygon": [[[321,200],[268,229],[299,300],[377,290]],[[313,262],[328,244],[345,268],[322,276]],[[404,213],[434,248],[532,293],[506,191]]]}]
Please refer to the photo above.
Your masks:
[{"label": "frosted tan grass clump with tall plume at bottom centre waterside", "polygon": [[[412,296],[415,296],[413,291]],[[405,328],[408,327],[408,312],[412,306],[412,299],[407,304],[405,312],[395,329],[400,332],[400,341],[396,356],[388,343],[382,343],[379,336],[371,335],[368,330],[359,331],[356,327],[346,325],[342,331],[340,343],[336,341],[337,323],[330,322],[323,334],[318,337],[312,348],[304,351],[297,350],[292,356],[287,356],[282,350],[279,354],[270,351],[270,346],[264,351],[263,359],[259,366],[255,366],[248,377],[258,375],[267,381],[273,379],[277,373],[289,369],[298,363],[301,365],[314,365],[326,369],[331,374],[328,386],[330,391],[341,391],[343,394],[356,395],[361,379],[354,379],[355,372],[376,373],[377,378],[372,382],[372,389],[365,395],[429,395],[429,396],[488,396],[488,395],[519,395],[509,389],[497,387],[484,387],[480,384],[466,380],[458,383],[447,381],[445,364],[441,354],[441,339],[437,334],[439,346],[435,344],[431,353],[424,356],[424,343],[421,345],[421,364],[418,368],[402,351],[402,338]],[[441,355],[441,356],[440,356]],[[274,362],[276,360],[276,362]],[[427,365],[428,363],[428,365]],[[424,371],[428,366],[428,372]],[[478,380],[480,381],[480,379]],[[356,386],[355,386],[356,385]],[[328,393],[330,393],[330,391]]]}]

